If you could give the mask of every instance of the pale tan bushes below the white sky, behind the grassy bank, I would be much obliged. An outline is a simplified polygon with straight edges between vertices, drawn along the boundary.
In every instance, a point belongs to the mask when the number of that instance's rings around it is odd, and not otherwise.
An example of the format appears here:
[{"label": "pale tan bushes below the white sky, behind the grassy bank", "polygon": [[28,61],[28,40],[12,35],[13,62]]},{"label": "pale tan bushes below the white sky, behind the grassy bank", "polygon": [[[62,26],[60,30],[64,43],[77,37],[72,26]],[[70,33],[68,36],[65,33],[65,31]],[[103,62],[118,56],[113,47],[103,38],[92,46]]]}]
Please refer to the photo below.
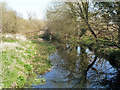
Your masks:
[{"label": "pale tan bushes below the white sky, behind the grassy bank", "polygon": [[6,3],[0,3],[0,23],[2,33],[27,33],[40,31],[45,27],[43,20],[33,18],[31,12],[28,13],[29,19],[23,19],[20,14],[7,7]]}]

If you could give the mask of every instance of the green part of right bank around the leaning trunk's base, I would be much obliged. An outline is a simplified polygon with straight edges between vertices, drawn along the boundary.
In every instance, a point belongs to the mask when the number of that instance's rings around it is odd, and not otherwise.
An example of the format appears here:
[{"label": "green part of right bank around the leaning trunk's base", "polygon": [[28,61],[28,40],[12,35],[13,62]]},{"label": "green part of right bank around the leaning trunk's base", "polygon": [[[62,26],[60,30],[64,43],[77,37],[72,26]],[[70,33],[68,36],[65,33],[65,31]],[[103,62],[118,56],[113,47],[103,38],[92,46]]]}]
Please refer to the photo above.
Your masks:
[{"label": "green part of right bank around the leaning trunk's base", "polygon": [[97,44],[92,37],[85,36],[80,40],[80,44],[88,47],[91,51],[95,51],[97,48],[97,56],[99,58],[105,58],[110,64],[119,69],[120,68],[120,48],[119,44],[115,41],[104,40],[101,38],[97,39]]}]

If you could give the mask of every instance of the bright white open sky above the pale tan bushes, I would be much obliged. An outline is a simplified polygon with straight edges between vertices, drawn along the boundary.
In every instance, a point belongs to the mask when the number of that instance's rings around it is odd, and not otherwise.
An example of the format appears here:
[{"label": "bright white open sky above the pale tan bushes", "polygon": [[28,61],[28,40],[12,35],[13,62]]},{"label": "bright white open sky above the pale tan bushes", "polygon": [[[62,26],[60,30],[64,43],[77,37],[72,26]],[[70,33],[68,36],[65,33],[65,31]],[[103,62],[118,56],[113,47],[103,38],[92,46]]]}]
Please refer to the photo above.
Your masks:
[{"label": "bright white open sky above the pale tan bushes", "polygon": [[[8,7],[19,13],[24,19],[28,19],[27,13],[35,13],[38,19],[44,19],[45,10],[51,0],[2,0]],[[34,15],[33,15],[34,16]]]}]

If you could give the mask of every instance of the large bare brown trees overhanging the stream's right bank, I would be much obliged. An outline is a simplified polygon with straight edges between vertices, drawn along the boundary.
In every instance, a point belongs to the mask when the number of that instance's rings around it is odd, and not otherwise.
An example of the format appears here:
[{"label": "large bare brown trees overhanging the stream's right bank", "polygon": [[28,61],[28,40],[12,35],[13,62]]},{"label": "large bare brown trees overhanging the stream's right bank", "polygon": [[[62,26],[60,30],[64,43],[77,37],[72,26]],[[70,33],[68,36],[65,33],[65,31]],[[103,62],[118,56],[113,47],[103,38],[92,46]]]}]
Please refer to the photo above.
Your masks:
[{"label": "large bare brown trees overhanging the stream's right bank", "polygon": [[48,31],[64,44],[120,48],[120,2],[54,3],[46,15]]}]

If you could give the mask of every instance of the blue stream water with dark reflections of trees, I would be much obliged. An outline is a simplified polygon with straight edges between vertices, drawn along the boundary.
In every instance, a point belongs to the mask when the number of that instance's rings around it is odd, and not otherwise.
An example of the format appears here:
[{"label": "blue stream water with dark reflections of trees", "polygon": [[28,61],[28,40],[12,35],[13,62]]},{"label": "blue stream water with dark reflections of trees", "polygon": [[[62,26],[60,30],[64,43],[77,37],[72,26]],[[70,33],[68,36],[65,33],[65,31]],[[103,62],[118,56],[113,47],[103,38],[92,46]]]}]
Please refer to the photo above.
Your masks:
[{"label": "blue stream water with dark reflections of trees", "polygon": [[53,65],[50,72],[42,77],[46,84],[34,88],[120,88],[120,72],[109,61],[97,58],[95,64],[86,69],[94,60],[94,53],[88,48],[62,50],[50,55]]}]

